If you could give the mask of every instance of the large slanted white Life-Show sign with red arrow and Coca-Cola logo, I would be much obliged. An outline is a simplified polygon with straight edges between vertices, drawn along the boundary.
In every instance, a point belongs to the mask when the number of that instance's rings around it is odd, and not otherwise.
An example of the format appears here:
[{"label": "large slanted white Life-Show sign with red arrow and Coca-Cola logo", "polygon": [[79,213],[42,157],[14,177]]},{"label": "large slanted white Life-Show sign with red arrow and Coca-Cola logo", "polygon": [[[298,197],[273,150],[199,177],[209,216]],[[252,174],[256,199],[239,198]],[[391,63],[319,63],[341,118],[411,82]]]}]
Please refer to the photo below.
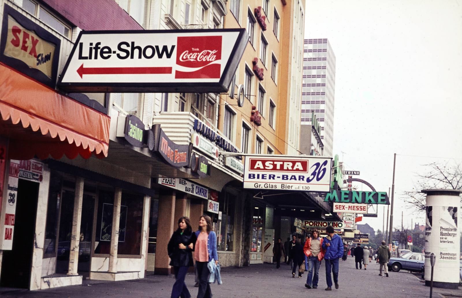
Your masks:
[{"label": "large slanted white Life-Show sign with red arrow and Coca-Cola logo", "polygon": [[245,29],[81,31],[58,85],[87,92],[226,92]]}]

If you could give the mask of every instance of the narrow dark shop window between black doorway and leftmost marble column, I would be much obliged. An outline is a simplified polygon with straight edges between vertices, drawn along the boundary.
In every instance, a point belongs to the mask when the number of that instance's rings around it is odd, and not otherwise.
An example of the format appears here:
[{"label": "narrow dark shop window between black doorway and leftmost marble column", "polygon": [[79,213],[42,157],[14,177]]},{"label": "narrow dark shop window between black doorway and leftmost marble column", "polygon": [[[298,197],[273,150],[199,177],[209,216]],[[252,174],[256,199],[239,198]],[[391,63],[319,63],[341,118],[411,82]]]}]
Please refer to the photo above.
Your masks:
[{"label": "narrow dark shop window between black doorway and leftmost marble column", "polygon": [[61,202],[61,184],[61,175],[54,170],[51,171],[43,258],[56,256],[56,236],[58,233],[59,207]]}]

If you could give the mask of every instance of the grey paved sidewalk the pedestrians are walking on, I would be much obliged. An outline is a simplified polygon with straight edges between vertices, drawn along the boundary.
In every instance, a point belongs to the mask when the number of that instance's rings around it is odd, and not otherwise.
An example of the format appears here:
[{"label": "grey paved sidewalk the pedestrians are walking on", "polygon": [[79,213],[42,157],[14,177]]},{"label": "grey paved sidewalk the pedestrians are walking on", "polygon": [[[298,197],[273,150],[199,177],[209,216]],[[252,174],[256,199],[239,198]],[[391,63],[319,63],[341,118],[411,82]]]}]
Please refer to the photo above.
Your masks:
[{"label": "grey paved sidewalk the pedestrians are walking on", "polygon": [[[324,261],[319,268],[319,284],[317,289],[304,287],[307,272],[302,278],[292,278],[290,266],[285,263],[276,269],[275,264],[258,264],[245,268],[223,268],[223,285],[211,285],[214,298],[297,298],[297,297],[358,297],[358,298],[422,298],[429,297],[430,288],[414,274],[407,271],[391,272],[389,277],[378,276],[379,265],[369,263],[367,270],[356,270],[354,259],[340,260],[340,288],[324,291],[326,276]],[[2,297],[8,298],[170,298],[171,288],[175,279],[173,275],[150,275],[140,280],[101,281],[84,280],[80,286],[67,286],[42,291],[4,292]],[[194,274],[187,274],[186,284],[191,297],[197,295],[194,285]],[[444,297],[438,293],[459,294],[459,290],[433,289],[433,297]]]}]

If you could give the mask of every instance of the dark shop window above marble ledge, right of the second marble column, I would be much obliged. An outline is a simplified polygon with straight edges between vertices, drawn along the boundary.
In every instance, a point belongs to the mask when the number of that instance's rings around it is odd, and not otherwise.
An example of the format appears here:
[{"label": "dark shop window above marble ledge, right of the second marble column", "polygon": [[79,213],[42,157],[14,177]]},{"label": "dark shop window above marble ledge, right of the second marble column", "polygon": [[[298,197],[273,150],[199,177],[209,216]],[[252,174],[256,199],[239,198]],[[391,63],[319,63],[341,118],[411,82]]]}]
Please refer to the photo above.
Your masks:
[{"label": "dark shop window above marble ledge, right of the second marble column", "polygon": [[122,192],[118,255],[140,255],[143,195]]}]

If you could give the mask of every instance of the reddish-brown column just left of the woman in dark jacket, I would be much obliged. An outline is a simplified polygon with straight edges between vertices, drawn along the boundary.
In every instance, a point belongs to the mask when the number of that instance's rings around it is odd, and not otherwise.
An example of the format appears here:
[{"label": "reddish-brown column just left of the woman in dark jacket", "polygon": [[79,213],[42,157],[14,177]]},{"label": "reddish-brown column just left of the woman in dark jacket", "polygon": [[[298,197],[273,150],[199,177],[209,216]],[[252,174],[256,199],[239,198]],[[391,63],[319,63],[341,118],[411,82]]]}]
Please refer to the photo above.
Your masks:
[{"label": "reddish-brown column just left of the woman in dark jacket", "polygon": [[175,190],[162,189],[159,193],[158,224],[157,224],[157,245],[155,274],[170,274],[170,258],[167,254],[167,244],[173,231],[176,230],[175,223]]}]

